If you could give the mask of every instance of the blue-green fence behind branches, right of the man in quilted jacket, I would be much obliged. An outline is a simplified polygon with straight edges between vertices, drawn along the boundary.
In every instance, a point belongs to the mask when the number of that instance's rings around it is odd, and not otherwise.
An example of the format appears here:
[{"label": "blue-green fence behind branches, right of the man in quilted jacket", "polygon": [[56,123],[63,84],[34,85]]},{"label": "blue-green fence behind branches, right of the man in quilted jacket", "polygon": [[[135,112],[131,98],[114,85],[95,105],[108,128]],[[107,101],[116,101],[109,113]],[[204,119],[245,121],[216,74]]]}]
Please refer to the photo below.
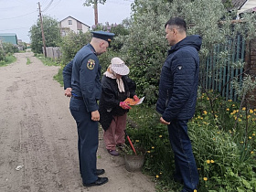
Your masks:
[{"label": "blue-green fence behind branches, right of the man in quilted jacket", "polygon": [[242,86],[244,69],[235,65],[244,62],[245,48],[245,39],[240,35],[229,39],[226,45],[214,46],[211,56],[200,61],[199,84],[202,88],[219,91],[226,100],[238,101],[230,81],[237,77]]}]

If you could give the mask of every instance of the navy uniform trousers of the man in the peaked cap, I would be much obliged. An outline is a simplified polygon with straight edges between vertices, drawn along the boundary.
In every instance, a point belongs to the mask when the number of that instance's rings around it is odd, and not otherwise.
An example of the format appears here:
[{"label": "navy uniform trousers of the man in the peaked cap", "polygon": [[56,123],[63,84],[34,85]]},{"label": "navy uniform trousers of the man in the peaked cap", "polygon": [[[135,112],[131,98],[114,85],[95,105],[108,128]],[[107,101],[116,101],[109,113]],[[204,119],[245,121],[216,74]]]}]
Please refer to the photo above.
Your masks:
[{"label": "navy uniform trousers of the man in the peaked cap", "polygon": [[98,179],[95,175],[99,144],[98,122],[91,120],[83,100],[71,98],[69,110],[77,123],[80,175],[83,184],[91,184]]}]

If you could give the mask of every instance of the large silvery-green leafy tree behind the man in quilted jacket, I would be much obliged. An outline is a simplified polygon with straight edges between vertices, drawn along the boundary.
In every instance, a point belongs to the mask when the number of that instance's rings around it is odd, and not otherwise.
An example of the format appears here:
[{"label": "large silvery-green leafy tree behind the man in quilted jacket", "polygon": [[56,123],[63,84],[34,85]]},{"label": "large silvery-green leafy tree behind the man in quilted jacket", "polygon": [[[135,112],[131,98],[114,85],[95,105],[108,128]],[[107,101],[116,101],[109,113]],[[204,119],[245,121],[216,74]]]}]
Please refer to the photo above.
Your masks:
[{"label": "large silvery-green leafy tree behind the man in quilted jacket", "polygon": [[[242,23],[232,23],[233,18],[221,0],[135,0],[132,10],[133,23],[122,48],[123,59],[131,69],[130,76],[137,82],[138,93],[151,103],[157,98],[160,69],[167,50],[164,26],[170,17],[179,16],[187,21],[187,35],[203,37],[201,61],[216,54],[216,45],[225,45],[238,34],[246,39],[255,36],[254,19],[248,16]],[[216,56],[223,60],[219,68],[225,68],[225,58],[231,55],[231,50],[227,54],[223,50]],[[218,70],[211,69],[212,73]]]}]

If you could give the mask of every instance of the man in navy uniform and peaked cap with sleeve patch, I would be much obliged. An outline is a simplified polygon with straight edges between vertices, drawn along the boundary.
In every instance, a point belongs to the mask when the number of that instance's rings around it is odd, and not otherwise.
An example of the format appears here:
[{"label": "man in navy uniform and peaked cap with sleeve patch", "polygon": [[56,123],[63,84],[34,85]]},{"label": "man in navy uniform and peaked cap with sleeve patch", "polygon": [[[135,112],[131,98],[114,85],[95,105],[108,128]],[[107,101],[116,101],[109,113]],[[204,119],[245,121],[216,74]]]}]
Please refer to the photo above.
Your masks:
[{"label": "man in navy uniform and peaked cap with sleeve patch", "polygon": [[[78,128],[80,175],[85,187],[108,182],[107,177],[100,177],[104,169],[96,168],[100,120],[97,101],[101,98],[101,65],[97,56],[106,52],[114,36],[104,31],[91,33],[91,43],[81,48],[63,69],[64,89],[71,91],[69,110]],[[69,71],[72,71],[71,82]],[[65,94],[69,96],[69,92]]]}]

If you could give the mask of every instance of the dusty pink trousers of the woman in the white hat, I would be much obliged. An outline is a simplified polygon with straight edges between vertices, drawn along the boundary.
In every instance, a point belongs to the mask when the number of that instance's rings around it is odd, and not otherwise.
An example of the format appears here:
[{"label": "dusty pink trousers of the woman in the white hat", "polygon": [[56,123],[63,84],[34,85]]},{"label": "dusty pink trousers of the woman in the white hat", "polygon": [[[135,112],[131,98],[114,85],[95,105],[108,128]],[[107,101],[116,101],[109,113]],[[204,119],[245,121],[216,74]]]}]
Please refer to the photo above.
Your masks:
[{"label": "dusty pink trousers of the woman in the white hat", "polygon": [[127,113],[123,114],[122,116],[114,116],[110,127],[103,134],[106,149],[115,150],[116,144],[124,144],[126,118]]}]

